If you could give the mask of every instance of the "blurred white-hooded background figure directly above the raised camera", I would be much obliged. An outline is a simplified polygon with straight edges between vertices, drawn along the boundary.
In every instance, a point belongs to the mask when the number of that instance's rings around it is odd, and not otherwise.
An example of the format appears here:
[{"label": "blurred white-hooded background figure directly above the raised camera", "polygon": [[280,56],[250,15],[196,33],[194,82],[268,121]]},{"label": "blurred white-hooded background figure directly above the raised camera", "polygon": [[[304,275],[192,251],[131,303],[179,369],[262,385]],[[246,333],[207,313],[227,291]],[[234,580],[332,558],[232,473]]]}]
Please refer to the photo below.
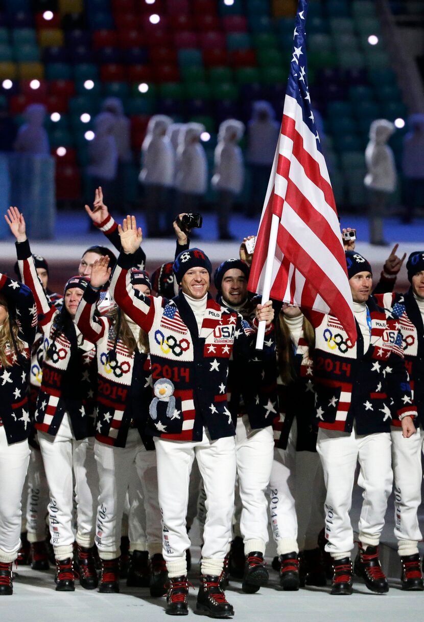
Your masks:
[{"label": "blurred white-hooded background figure directly above the raised camera", "polygon": [[207,190],[207,159],[201,134],[201,123],[186,123],[179,134],[176,188],[179,193],[178,213],[199,211],[201,198]]}]

